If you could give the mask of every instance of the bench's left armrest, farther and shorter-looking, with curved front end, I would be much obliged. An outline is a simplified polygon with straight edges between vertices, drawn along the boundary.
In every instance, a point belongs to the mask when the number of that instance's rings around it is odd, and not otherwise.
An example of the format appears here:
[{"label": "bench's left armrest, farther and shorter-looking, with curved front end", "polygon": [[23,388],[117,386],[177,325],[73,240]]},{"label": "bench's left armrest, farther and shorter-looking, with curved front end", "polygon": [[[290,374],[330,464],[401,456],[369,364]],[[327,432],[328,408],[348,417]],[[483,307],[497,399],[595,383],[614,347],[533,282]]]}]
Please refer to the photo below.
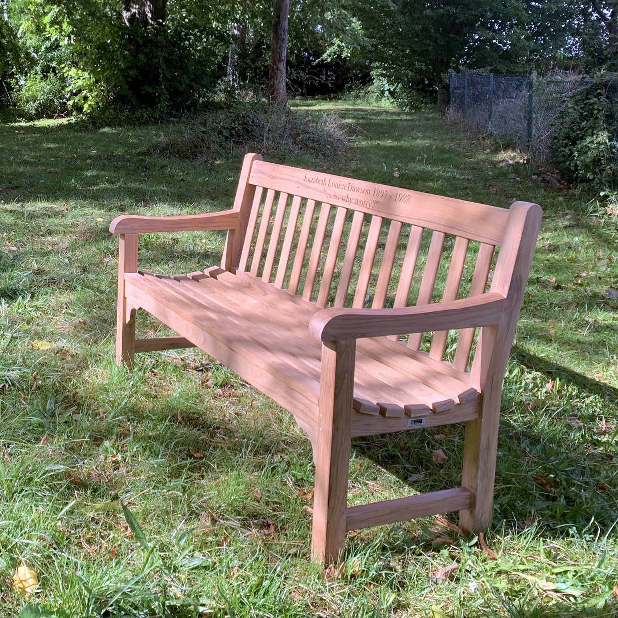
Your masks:
[{"label": "bench's left armrest, farther and shorter-looking, with curved front end", "polygon": [[144,234],[145,232],[197,232],[229,230],[236,227],[237,210],[221,213],[187,214],[178,217],[148,217],[139,214],[122,214],[109,225],[112,234]]}]

